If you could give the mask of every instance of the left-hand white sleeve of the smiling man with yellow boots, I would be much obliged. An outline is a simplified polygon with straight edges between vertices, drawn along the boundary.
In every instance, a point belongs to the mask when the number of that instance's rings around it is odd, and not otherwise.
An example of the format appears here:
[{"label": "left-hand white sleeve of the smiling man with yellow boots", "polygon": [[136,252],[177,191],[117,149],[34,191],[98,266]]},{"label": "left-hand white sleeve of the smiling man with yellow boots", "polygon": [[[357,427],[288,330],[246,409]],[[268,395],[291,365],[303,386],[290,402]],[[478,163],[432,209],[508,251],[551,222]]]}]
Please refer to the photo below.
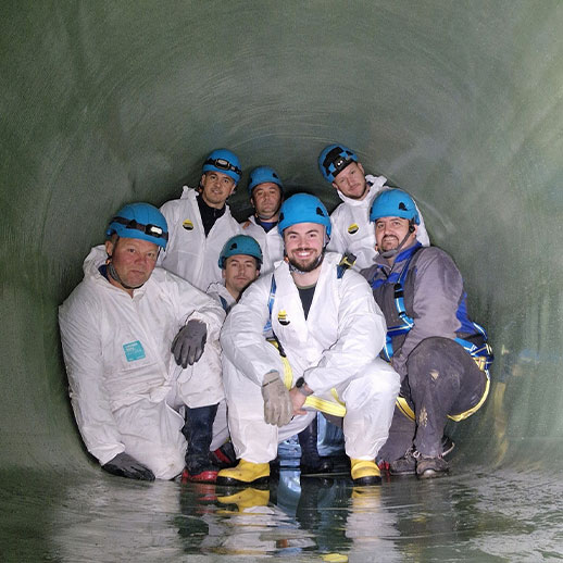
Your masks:
[{"label": "left-hand white sleeve of the smiling man with yellow boots", "polygon": [[272,275],[266,275],[245,289],[221,331],[223,353],[257,385],[262,385],[267,372],[278,370],[272,360],[274,349],[263,333],[270,317],[267,302],[271,284]]}]

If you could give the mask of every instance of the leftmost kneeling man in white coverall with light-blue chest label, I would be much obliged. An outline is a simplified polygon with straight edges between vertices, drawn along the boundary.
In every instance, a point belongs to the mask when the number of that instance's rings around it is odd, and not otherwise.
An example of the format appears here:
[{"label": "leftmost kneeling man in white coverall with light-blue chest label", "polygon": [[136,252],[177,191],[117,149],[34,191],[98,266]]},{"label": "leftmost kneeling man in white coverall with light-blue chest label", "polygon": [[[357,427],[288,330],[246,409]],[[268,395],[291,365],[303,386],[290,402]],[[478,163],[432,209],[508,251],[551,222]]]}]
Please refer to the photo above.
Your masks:
[{"label": "leftmost kneeling man in white coverall with light-blue chest label", "polygon": [[224,398],[217,337],[225,313],[154,267],[167,235],[157,208],[125,205],[105,246],[84,262],[84,280],[59,310],[71,401],[86,447],[105,471],[171,479],[186,463],[195,480],[214,480],[209,451]]}]

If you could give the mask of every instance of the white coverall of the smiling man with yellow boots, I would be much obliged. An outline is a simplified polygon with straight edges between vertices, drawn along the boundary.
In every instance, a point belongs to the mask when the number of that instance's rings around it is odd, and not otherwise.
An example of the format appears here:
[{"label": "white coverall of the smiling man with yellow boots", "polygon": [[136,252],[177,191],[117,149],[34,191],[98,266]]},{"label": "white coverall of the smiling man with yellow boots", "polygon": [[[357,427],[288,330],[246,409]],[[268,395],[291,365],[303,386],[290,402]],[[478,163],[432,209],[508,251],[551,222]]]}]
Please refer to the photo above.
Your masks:
[{"label": "white coverall of the smiling man with yellow boots", "polygon": [[279,353],[263,336],[272,275],[277,286],[272,328],[291,365],[291,385],[303,376],[315,397],[333,402],[335,389],[347,409],[343,433],[350,458],[373,460],[385,443],[399,376],[378,358],[386,325],[370,286],[350,270],[338,279],[339,260],[339,254],[325,255],[306,320],[286,262],[250,285],[227,315],[221,333],[223,381],[238,458],[253,463],[273,460],[278,442],[301,431],[316,415],[310,410],[282,428],[264,422],[263,377],[271,370],[284,374]]}]

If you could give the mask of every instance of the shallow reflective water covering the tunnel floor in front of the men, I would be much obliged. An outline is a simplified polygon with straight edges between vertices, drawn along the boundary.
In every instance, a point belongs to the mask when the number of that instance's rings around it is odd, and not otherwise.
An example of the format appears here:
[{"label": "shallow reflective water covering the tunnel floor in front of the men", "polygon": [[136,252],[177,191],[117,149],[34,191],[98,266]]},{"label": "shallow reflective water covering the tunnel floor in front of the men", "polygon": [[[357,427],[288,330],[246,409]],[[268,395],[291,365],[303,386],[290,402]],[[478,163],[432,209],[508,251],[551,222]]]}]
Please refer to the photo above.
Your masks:
[{"label": "shallow reflective water covering the tunnel floor in front of the men", "polygon": [[265,490],[102,472],[2,477],[5,562],[563,559],[563,486],[533,473],[458,471],[362,488],[346,475],[283,471]]}]

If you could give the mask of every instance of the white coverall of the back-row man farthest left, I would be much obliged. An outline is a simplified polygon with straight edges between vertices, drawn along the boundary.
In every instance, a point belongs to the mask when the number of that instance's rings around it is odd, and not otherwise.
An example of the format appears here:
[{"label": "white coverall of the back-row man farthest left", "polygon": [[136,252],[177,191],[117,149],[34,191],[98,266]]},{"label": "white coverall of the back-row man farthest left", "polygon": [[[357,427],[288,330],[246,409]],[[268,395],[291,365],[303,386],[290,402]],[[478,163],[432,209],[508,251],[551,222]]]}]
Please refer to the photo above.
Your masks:
[{"label": "white coverall of the back-row man farthest left", "polygon": [[168,224],[168,243],[158,264],[207,291],[210,284],[221,282],[218,255],[225,242],[240,234],[240,227],[226,205],[225,213],[205,236],[197,195],[195,189],[184,186],[179,199],[167,201],[160,209]]}]

